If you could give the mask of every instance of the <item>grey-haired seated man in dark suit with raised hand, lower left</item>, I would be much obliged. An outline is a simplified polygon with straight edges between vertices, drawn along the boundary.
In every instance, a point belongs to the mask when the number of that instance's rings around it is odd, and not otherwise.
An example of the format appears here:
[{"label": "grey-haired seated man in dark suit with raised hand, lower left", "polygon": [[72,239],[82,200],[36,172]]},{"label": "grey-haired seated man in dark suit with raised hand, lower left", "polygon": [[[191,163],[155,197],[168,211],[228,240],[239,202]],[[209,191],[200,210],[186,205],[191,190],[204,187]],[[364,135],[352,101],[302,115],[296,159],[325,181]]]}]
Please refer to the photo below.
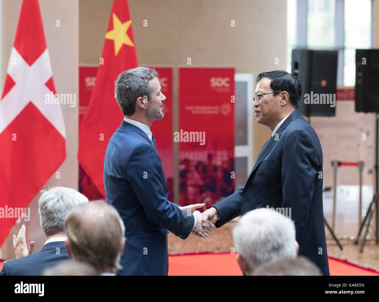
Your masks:
[{"label": "grey-haired seated man in dark suit with raised hand, lower left", "polygon": [[45,245],[39,253],[30,255],[34,242],[30,242],[28,249],[25,226],[22,226],[17,238],[13,235],[13,248],[18,259],[4,262],[0,276],[39,276],[47,267],[69,259],[64,245],[67,239],[64,218],[72,208],[88,202],[88,198],[76,190],[64,187],[53,187],[42,192],[44,193],[38,200],[38,213],[47,239]]}]

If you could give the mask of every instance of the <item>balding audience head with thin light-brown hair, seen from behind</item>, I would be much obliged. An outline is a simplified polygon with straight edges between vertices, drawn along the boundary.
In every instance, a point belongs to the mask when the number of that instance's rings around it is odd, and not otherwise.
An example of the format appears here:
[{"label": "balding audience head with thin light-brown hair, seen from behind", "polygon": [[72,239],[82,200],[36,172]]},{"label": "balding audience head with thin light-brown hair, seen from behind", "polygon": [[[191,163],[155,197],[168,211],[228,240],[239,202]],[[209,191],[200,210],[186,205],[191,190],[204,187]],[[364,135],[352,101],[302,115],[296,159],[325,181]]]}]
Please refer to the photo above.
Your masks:
[{"label": "balding audience head with thin light-brown hair, seen from behind", "polygon": [[116,273],[125,246],[125,226],[117,210],[103,201],[91,201],[66,217],[66,248],[75,261],[98,272]]}]

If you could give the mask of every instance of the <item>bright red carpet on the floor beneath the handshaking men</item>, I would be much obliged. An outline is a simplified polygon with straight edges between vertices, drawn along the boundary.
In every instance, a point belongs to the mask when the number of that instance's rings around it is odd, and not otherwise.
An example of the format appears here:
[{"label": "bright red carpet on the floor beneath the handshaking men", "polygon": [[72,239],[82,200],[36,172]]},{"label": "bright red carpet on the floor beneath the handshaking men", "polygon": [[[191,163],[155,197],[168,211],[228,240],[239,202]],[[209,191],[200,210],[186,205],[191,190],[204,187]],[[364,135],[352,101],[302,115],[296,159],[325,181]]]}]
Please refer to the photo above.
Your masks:
[{"label": "bright red carpet on the floor beneath the handshaking men", "polygon": [[[230,253],[200,253],[189,255],[171,255],[169,261],[169,276],[242,276],[235,255]],[[3,267],[0,261],[0,270]],[[331,276],[377,276],[379,272],[356,266],[346,260],[329,257]]]}]

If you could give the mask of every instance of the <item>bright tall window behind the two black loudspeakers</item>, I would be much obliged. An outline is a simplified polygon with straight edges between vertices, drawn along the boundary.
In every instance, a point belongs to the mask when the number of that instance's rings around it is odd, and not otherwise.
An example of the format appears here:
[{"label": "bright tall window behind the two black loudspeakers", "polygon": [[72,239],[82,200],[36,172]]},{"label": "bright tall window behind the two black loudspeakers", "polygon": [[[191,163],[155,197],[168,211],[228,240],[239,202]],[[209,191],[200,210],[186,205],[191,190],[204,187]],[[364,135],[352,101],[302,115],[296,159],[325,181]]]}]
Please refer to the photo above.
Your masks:
[{"label": "bright tall window behind the two black loudspeakers", "polygon": [[[295,47],[306,44],[310,49],[339,49],[339,56],[343,58],[340,57],[338,63],[338,84],[355,86],[355,49],[372,47],[372,3],[373,0],[344,0],[343,3],[339,0],[336,9],[336,0],[288,0],[287,71],[291,72],[291,54]],[[298,16],[297,9],[304,9],[306,16]],[[336,13],[344,14],[343,19],[337,16],[337,24]],[[298,45],[297,35],[302,28],[304,34]],[[343,39],[336,37],[336,32],[343,33]]]}]

